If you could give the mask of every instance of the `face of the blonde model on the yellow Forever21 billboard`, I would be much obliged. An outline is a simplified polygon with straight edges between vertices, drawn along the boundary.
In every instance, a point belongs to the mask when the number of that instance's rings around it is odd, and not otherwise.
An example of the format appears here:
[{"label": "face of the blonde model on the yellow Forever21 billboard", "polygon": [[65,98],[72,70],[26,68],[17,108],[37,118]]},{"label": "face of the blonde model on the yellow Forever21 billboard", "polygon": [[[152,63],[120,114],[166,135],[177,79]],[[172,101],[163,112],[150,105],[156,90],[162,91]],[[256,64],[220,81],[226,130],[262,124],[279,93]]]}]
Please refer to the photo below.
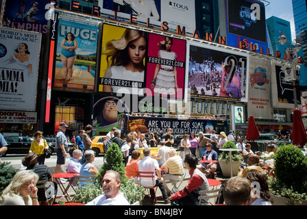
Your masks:
[{"label": "face of the blonde model on the yellow Forever21 billboard", "polygon": [[143,62],[146,53],[146,40],[143,37],[132,40],[128,44],[128,54],[134,64]]}]

